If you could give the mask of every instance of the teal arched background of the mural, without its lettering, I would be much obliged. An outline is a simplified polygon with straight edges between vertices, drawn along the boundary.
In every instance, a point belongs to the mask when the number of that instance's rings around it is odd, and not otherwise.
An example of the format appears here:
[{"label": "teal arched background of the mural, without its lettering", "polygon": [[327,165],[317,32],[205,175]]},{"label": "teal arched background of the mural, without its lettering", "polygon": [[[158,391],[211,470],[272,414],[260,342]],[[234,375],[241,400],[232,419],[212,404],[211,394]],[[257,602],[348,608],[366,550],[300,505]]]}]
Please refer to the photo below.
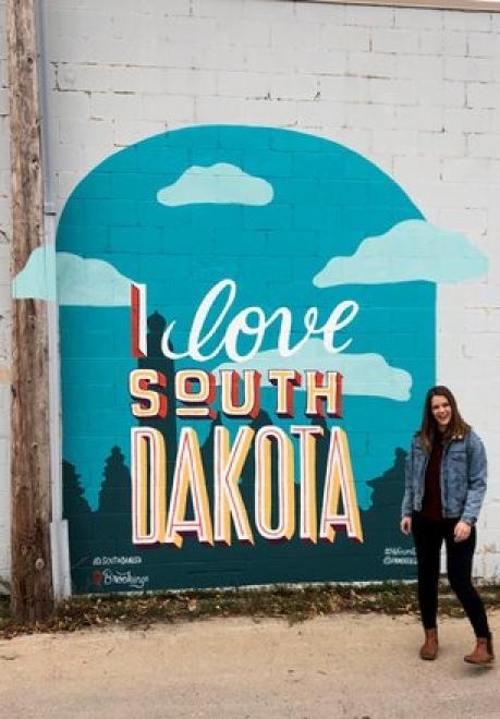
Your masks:
[{"label": "teal arched background of the mural, without its lettering", "polygon": [[[443,234],[448,258],[460,242],[466,244],[463,237],[453,243],[450,233],[427,223],[405,192],[368,159],[298,132],[187,127],[145,139],[96,167],[69,198],[57,237],[64,499],[75,590],[413,576],[411,544],[399,533],[404,450],[418,423],[422,398],[435,381],[436,282],[463,278],[459,270],[447,275],[436,255],[440,245],[435,239]],[[458,252],[463,254],[464,246]],[[471,253],[463,265],[468,276],[483,267],[481,258]],[[210,358],[166,357],[166,328],[174,321],[171,354],[185,354],[197,308],[223,280],[233,283],[234,297],[203,346],[202,354]],[[131,283],[147,287],[147,356],[138,358],[131,354]],[[19,288],[22,293],[21,283]],[[214,302],[207,327],[222,313],[227,292]],[[308,308],[317,308],[317,327],[336,308],[344,312],[339,310],[333,339],[325,339],[328,331],[313,333],[286,357],[279,350],[280,321],[270,321],[253,356],[240,363],[221,342],[230,320],[247,307],[259,308],[266,319],[286,308],[291,345],[304,339]],[[258,317],[249,314],[248,326],[255,328]],[[237,353],[252,352],[254,343],[249,330],[240,332]],[[332,353],[327,345],[344,349]],[[254,417],[221,413],[218,373],[239,367],[263,376],[260,411]],[[132,415],[129,376],[137,368],[167,378],[164,389],[157,387],[167,397],[164,417]],[[216,418],[175,416],[175,373],[188,368],[216,376]],[[269,369],[279,368],[296,369],[302,377],[307,370],[342,373],[341,417],[306,416],[304,387],[294,391],[294,416],[278,416],[276,387],[266,378]],[[300,538],[298,440],[291,431],[297,424],[324,432],[315,444],[318,517],[329,441],[334,428],[345,432],[363,540],[349,538],[345,527],[338,528],[333,541]],[[203,544],[187,534],[180,548],[133,544],[131,428],[145,426],[164,440],[167,495],[181,430],[194,428],[212,522],[217,428],[225,427],[231,441],[243,426],[283,430],[295,467],[292,536],[270,541],[256,527],[251,451],[239,488],[253,545],[239,541],[234,527],[231,546]],[[270,461],[269,519],[276,527],[273,443]],[[191,500],[186,516],[192,517]],[[339,513],[345,501],[342,495]]]}]

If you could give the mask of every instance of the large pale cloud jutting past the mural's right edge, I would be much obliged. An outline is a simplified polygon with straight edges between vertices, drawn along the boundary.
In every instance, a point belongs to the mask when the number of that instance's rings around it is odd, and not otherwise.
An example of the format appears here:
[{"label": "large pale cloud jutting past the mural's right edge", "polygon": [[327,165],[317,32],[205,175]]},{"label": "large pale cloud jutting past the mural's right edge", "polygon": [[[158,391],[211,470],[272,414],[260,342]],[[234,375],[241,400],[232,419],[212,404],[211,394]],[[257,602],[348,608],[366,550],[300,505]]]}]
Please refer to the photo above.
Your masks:
[{"label": "large pale cloud jutting past the mural's right edge", "polygon": [[313,279],[317,288],[340,284],[462,282],[485,275],[488,259],[459,232],[425,220],[406,220],[366,237],[350,257],[333,257]]}]

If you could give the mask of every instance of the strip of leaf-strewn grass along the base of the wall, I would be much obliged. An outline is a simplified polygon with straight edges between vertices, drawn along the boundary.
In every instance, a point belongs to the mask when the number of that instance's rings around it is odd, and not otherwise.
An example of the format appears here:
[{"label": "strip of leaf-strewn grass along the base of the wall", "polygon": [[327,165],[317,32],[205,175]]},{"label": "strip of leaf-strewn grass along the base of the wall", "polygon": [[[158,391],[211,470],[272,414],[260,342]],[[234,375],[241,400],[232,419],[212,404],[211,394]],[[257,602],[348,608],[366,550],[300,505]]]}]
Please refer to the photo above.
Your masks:
[{"label": "strip of leaf-strewn grass along the base of the wall", "polygon": [[[500,608],[500,585],[480,589],[487,607]],[[462,616],[446,586],[441,587],[442,614]],[[62,601],[45,622],[19,624],[10,616],[7,597],[0,597],[0,635],[10,638],[35,632],[74,632],[90,626],[148,629],[153,624],[208,619],[253,617],[285,619],[291,623],[338,612],[416,614],[415,584],[277,586],[260,589],[200,590],[142,596],[74,597]]]}]

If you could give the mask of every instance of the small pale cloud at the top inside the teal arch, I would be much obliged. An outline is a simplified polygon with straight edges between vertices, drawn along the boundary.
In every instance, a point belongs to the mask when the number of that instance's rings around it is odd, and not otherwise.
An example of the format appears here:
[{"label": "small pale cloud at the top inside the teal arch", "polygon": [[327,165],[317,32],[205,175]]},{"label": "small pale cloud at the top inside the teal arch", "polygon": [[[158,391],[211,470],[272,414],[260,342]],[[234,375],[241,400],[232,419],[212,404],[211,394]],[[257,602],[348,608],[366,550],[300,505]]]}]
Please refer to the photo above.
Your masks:
[{"label": "small pale cloud at the top inside the teal arch", "polygon": [[193,164],[173,184],[159,190],[157,199],[168,207],[182,205],[269,205],[272,185],[235,164]]}]

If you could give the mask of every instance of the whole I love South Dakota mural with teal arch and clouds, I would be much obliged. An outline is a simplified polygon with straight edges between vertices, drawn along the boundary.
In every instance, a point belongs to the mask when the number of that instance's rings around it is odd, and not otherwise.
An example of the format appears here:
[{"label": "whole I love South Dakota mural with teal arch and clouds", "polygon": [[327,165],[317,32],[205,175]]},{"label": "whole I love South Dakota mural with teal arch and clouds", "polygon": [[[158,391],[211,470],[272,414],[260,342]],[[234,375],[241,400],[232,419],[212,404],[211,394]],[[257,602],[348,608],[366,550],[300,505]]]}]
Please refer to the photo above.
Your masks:
[{"label": "whole I love South Dakota mural with teal arch and clouds", "polygon": [[466,237],[346,147],[200,126],[95,168],[57,249],[14,293],[58,288],[76,592],[414,576],[405,448]]}]

